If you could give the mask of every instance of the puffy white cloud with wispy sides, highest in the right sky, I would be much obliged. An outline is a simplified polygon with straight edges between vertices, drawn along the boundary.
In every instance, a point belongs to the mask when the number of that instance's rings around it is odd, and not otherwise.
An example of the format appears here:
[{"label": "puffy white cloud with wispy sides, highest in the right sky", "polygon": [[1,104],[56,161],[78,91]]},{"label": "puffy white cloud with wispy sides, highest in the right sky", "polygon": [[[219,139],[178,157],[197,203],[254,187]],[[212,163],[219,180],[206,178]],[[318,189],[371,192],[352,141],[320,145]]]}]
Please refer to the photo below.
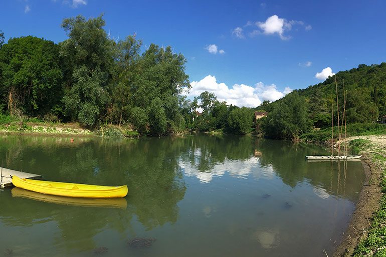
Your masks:
[{"label": "puffy white cloud with wispy sides, highest in the right sky", "polygon": [[[286,32],[291,31],[293,26],[303,27],[306,31],[309,31],[312,29],[311,25],[306,25],[303,21],[295,21],[295,20],[288,21],[284,18],[279,18],[279,16],[277,15],[268,17],[268,19],[265,22],[252,23],[249,21],[244,27],[249,28],[249,32],[247,30],[247,32],[245,33],[250,37],[254,37],[259,34],[264,34],[264,35],[276,34],[282,40],[288,40],[291,38],[291,36],[288,36],[285,34]],[[243,34],[240,34],[240,33],[243,33]],[[232,31],[232,35],[236,37],[238,37],[237,35],[239,34],[244,36],[244,31],[240,27],[237,27],[235,30]]]}]

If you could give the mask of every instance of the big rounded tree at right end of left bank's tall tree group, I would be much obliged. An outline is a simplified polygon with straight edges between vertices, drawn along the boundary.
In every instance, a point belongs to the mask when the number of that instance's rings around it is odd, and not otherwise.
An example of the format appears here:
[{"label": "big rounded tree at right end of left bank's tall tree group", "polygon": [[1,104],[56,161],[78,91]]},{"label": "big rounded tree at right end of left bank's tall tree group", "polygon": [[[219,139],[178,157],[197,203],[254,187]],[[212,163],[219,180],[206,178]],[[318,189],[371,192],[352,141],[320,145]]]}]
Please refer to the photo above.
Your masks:
[{"label": "big rounded tree at right end of left bank's tall tree group", "polygon": [[142,54],[139,72],[130,92],[133,105],[148,114],[148,128],[151,134],[173,133],[183,129],[184,122],[178,113],[180,93],[189,89],[185,74],[186,59],[182,54],[173,53],[171,47],[151,44]]}]

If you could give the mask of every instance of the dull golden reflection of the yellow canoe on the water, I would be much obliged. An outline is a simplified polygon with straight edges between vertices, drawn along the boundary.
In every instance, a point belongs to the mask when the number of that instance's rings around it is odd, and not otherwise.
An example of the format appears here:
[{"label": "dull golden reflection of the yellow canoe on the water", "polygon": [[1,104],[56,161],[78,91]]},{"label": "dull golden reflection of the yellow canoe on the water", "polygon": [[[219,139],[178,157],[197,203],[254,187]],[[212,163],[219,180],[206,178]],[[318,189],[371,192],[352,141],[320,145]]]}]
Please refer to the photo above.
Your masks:
[{"label": "dull golden reflection of the yellow canoe on the water", "polygon": [[127,201],[125,198],[73,198],[58,195],[41,194],[19,187],[12,188],[12,196],[72,206],[120,209],[126,209],[127,207]]}]

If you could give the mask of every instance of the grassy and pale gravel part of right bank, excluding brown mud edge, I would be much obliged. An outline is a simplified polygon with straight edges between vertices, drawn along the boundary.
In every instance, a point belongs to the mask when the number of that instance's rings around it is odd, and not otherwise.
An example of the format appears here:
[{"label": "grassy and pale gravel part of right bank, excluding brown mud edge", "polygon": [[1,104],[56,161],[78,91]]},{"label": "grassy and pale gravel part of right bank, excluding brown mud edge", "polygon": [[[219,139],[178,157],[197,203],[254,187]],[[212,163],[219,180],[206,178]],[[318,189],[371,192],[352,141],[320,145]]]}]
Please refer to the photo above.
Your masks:
[{"label": "grassy and pale gravel part of right bank, excluding brown mud edge", "polygon": [[370,227],[362,228],[359,243],[352,251],[347,250],[344,256],[386,256],[386,136],[356,137],[350,140],[349,145],[355,153],[365,154],[381,170],[379,187],[382,196],[379,208],[374,209],[369,220]]}]

